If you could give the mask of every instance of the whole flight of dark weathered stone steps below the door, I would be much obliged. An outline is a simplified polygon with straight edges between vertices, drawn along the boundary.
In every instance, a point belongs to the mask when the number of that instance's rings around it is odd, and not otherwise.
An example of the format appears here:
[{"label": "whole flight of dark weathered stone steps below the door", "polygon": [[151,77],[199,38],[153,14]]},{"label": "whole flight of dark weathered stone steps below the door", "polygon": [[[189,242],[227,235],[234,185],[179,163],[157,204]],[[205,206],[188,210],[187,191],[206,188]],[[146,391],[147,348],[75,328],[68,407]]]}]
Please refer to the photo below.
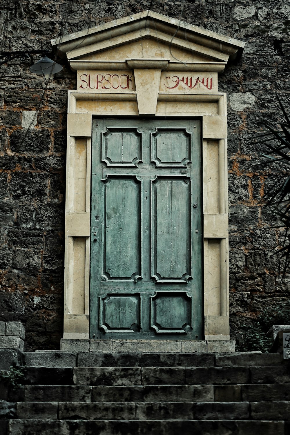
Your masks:
[{"label": "whole flight of dark weathered stone steps below the door", "polygon": [[22,387],[0,388],[1,435],[290,434],[290,360],[280,354],[0,357],[2,368],[13,361],[26,375]]}]

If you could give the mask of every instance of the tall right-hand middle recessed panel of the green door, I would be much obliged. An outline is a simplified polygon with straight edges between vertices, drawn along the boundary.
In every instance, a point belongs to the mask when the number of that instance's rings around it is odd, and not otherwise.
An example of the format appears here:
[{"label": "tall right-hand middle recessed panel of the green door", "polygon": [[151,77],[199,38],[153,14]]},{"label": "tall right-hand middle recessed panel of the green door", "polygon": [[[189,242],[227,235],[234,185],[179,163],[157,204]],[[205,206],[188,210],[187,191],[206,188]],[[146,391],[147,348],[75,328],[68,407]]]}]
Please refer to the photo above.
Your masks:
[{"label": "tall right-hand middle recessed panel of the green door", "polygon": [[152,181],[152,275],[157,281],[191,277],[190,177]]}]

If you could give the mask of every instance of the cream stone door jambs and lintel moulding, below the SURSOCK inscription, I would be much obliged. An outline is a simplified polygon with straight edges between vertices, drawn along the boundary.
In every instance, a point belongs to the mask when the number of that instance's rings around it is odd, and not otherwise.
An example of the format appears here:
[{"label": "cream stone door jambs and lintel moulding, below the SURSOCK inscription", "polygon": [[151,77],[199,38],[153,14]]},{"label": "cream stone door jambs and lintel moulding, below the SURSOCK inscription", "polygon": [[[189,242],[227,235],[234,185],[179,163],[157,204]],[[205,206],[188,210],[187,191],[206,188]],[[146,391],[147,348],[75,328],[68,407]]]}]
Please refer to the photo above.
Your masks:
[{"label": "cream stone door jambs and lintel moulding, below the SURSOCK inscription", "polygon": [[[112,94],[69,91],[63,338],[89,338],[92,117],[139,117],[136,94],[124,96],[125,112]],[[226,94],[170,97],[158,117],[202,120],[204,337],[229,340]]]}]

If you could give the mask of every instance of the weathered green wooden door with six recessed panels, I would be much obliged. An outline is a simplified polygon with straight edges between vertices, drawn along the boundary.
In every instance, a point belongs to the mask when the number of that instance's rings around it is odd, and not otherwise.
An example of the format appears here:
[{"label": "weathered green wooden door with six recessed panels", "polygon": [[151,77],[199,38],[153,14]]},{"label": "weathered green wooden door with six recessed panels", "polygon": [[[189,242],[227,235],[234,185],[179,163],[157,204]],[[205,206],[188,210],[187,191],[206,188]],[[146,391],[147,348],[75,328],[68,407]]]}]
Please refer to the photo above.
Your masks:
[{"label": "weathered green wooden door with six recessed panels", "polygon": [[202,339],[199,120],[93,121],[90,337]]}]

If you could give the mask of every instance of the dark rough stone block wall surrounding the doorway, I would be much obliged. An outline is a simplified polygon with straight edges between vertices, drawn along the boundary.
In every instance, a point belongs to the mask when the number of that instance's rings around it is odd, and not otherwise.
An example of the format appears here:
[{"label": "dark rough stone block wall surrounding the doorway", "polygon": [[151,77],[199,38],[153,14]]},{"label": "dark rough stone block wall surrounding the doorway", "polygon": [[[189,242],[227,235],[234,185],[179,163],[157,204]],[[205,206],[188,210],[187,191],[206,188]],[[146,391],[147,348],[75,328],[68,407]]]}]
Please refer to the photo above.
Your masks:
[{"label": "dark rough stone block wall surrounding the doorway", "polygon": [[[254,141],[262,122],[275,126],[281,118],[275,93],[286,107],[290,102],[288,1],[3,0],[1,6],[5,51],[51,50],[54,37],[149,8],[247,42],[242,59],[219,79],[228,94],[231,334],[241,342],[247,325],[289,297],[289,279],[280,283],[277,258],[267,256],[280,230],[268,228],[276,221],[259,203],[271,168],[259,166]],[[46,87],[29,72],[39,58],[0,67],[0,321],[23,322],[27,350],[57,349],[62,336],[67,90],[76,87],[64,60]]]}]

